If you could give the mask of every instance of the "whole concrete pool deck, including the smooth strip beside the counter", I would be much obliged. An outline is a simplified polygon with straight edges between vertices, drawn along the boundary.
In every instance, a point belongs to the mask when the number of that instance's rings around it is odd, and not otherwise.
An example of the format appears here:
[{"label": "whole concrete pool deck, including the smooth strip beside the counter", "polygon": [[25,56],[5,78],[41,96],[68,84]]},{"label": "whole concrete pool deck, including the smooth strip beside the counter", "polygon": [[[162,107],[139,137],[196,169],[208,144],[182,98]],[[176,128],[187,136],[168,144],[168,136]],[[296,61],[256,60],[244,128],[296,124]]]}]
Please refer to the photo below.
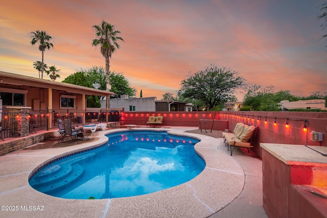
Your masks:
[{"label": "whole concrete pool deck, including the smooth strip beside the counter", "polygon": [[97,131],[92,135],[94,141],[50,149],[22,149],[0,156],[0,205],[10,209],[3,210],[2,207],[0,216],[267,217],[262,207],[260,158],[239,149],[230,156],[222,139],[184,132],[197,128],[133,128],[144,129],[163,129],[200,138],[195,149],[206,162],[203,172],[193,180],[169,189],[116,199],[61,199],[45,195],[29,185],[30,174],[44,162],[99,146],[107,141],[105,134],[128,130]]}]

